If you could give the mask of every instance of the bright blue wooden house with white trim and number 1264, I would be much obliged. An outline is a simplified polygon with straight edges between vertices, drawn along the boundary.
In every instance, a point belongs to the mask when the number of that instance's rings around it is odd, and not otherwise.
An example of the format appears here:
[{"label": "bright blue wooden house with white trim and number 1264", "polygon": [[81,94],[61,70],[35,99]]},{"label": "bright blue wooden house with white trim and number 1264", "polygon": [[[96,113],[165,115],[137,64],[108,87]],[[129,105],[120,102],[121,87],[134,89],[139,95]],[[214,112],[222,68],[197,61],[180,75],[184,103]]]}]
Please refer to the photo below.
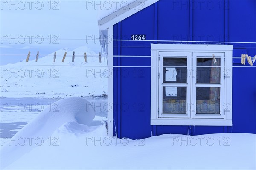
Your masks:
[{"label": "bright blue wooden house with white trim and number 1264", "polygon": [[256,133],[255,0],[137,0],[98,23],[108,134]]}]

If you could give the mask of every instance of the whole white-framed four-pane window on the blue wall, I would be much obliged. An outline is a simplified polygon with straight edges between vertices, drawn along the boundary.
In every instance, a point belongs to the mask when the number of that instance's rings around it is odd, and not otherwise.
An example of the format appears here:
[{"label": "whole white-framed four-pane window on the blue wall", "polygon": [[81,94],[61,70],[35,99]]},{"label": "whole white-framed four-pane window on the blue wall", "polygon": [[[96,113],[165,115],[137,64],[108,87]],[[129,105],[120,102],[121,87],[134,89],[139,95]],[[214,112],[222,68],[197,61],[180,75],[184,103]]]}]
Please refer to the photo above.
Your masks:
[{"label": "whole white-framed four-pane window on the blue wall", "polygon": [[232,125],[232,45],[151,50],[151,125]]}]

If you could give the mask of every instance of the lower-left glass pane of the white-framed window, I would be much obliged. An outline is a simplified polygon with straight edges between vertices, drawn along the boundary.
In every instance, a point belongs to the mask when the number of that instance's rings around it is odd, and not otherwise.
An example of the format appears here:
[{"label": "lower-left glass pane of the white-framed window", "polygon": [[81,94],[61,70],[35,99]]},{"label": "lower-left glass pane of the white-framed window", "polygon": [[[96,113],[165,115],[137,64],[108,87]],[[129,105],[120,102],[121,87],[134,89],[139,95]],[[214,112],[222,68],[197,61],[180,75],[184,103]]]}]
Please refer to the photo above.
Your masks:
[{"label": "lower-left glass pane of the white-framed window", "polygon": [[163,114],[186,114],[186,87],[163,87]]}]

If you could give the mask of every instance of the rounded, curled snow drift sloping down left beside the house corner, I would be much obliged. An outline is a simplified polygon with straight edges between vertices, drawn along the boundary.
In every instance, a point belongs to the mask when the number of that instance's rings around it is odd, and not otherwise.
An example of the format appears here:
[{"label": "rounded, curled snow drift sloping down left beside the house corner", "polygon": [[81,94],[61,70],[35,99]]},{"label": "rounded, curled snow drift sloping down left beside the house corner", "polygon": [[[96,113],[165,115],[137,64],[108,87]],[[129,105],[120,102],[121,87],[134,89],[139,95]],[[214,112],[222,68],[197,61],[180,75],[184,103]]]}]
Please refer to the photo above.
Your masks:
[{"label": "rounded, curled snow drift sloping down left beside the house corner", "polygon": [[[58,100],[50,105],[49,108],[44,109],[34,120],[16,133],[10,139],[14,141],[13,143],[6,142],[1,147],[0,169],[38,146],[38,142],[47,141],[62,125],[66,126],[67,131],[70,133],[88,131],[88,125],[90,125],[94,117],[94,109],[86,99],[70,97]],[[28,143],[29,140],[34,141],[35,139],[35,142]],[[38,139],[40,140],[38,141]],[[25,140],[26,144],[23,144]]]}]

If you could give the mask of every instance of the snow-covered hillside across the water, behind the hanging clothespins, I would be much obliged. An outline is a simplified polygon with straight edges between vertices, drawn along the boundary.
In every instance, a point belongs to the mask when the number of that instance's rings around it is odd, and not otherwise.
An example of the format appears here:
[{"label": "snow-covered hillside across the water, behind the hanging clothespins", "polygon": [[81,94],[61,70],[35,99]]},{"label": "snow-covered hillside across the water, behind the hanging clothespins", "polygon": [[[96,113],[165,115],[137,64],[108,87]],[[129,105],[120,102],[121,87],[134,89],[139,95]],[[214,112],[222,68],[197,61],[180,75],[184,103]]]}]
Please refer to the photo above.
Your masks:
[{"label": "snow-covered hillside across the water, behind the hanging clothespins", "polygon": [[[75,60],[72,62],[73,51]],[[106,96],[107,77],[112,72],[107,68],[107,59],[99,63],[99,54],[87,47],[73,50],[64,48],[39,58],[31,54],[29,62],[26,56],[22,62],[1,66],[0,97],[44,97],[64,98],[67,96]],[[62,58],[67,52],[64,63]],[[87,62],[84,53],[87,53]],[[40,54],[39,54],[40,55]]]}]

